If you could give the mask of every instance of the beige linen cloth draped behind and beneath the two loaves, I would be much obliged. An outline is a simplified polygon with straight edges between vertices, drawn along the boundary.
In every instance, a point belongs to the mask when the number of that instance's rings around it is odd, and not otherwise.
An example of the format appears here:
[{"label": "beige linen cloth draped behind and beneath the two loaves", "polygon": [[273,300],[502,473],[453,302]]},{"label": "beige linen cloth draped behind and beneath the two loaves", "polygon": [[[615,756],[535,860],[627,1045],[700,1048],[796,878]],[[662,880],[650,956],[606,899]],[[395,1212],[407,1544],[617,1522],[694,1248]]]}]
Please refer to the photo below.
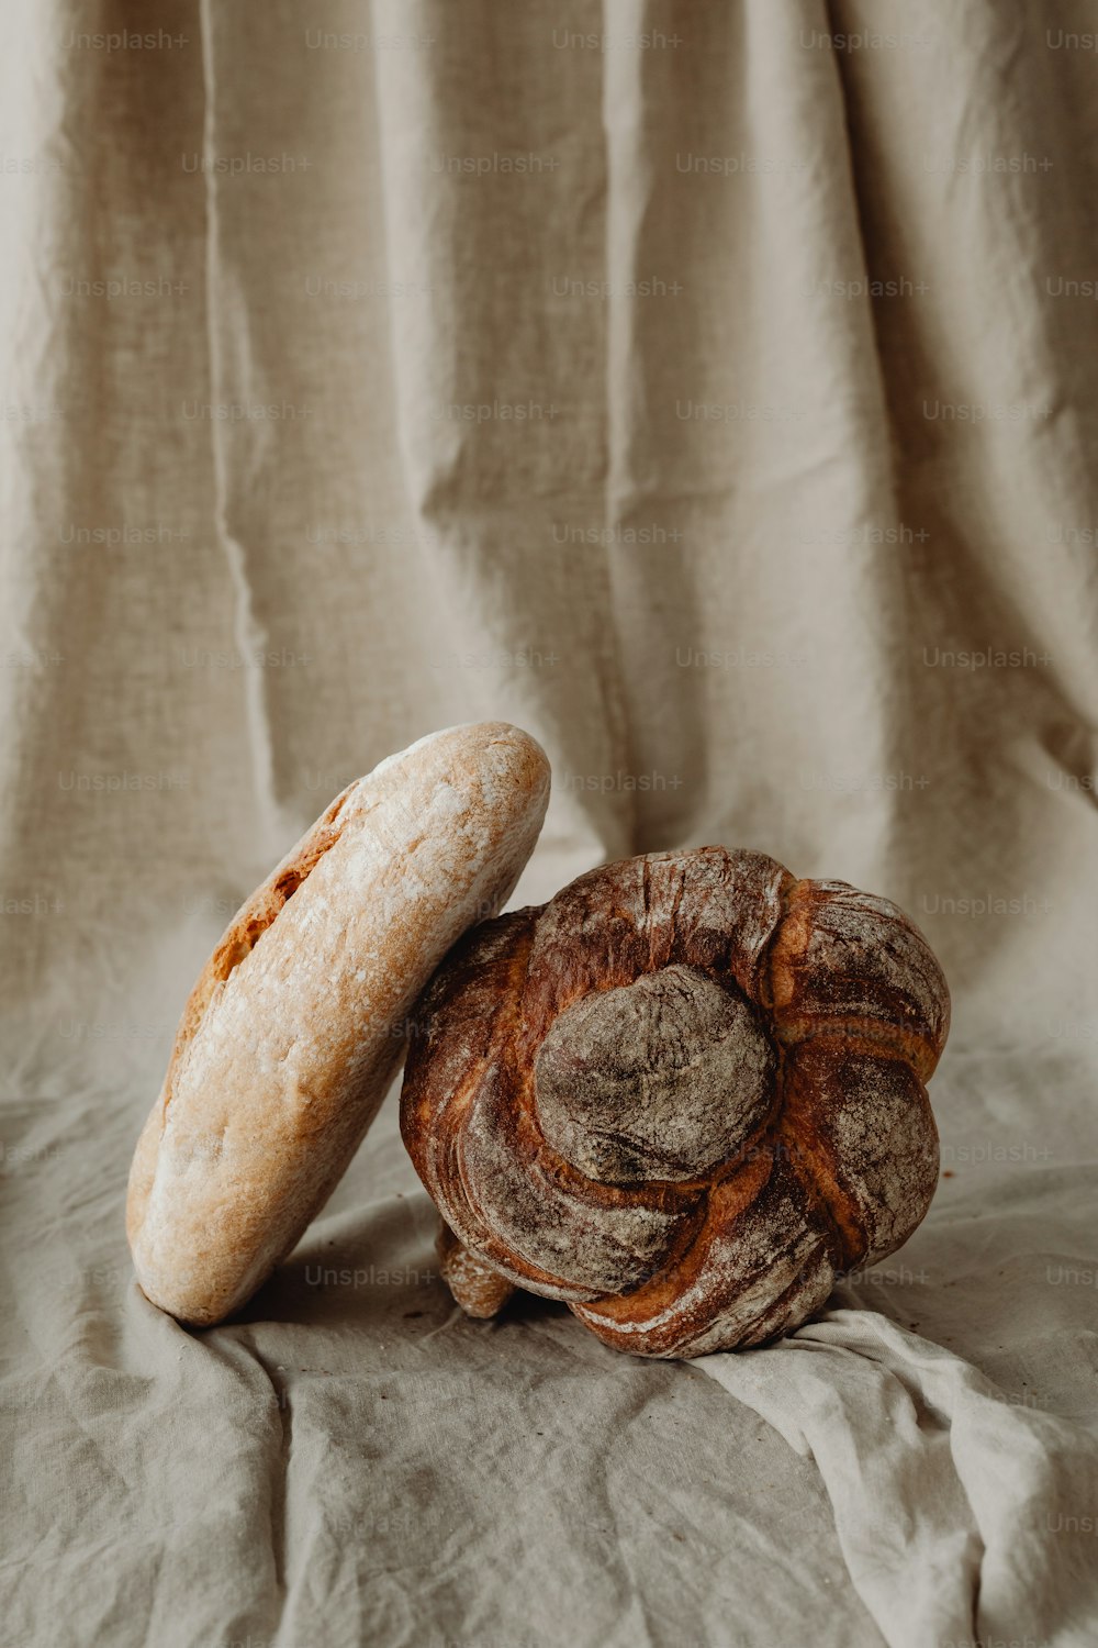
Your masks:
[{"label": "beige linen cloth draped behind and beneath the two loaves", "polygon": [[[1098,1640],[1098,3],[12,0],[12,1641]],[[943,1180],[779,1346],[456,1313],[395,1094],[232,1325],[137,1290],[189,984],[329,798],[510,719],[517,901],[723,842],[899,901]]]}]

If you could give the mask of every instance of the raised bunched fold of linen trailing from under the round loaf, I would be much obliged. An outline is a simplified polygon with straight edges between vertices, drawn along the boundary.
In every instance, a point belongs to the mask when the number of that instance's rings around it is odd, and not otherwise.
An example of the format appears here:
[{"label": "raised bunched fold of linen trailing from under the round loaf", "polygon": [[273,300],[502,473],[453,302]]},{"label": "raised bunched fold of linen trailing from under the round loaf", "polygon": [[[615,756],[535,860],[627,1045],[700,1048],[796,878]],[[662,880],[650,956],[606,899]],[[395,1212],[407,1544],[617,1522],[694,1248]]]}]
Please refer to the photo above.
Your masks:
[{"label": "raised bunched fold of linen trailing from under the round loaf", "polygon": [[889,1648],[1093,1643],[1096,1615],[1078,1602],[1090,1562],[1098,1610],[1091,1435],[1011,1406],[951,1351],[843,1305],[774,1346],[691,1366],[815,1460]]}]

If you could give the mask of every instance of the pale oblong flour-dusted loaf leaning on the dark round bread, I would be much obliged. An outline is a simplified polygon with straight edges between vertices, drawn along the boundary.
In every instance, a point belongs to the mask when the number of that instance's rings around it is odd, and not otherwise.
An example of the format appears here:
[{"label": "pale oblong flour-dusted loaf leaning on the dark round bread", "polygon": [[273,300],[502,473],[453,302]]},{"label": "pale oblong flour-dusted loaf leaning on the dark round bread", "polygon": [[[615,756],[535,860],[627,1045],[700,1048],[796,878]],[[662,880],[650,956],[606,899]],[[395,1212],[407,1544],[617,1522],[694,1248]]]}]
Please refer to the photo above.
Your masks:
[{"label": "pale oblong flour-dusted loaf leaning on the dark round bread", "polygon": [[130,1170],[153,1304],[219,1322],[290,1252],[374,1119],[435,966],[514,890],[548,786],[515,727],[433,733],[344,789],[244,905]]}]

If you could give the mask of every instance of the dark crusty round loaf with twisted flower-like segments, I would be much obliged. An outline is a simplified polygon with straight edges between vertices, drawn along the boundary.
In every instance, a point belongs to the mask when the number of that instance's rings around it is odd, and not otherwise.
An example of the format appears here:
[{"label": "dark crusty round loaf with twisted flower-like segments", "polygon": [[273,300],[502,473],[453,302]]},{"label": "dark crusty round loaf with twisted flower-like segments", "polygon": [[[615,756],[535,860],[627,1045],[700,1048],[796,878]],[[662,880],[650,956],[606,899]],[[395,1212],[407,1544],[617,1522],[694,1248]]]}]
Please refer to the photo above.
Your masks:
[{"label": "dark crusty round loaf with twisted flower-like segments", "polygon": [[402,1094],[451,1292],[561,1299],[645,1356],[797,1327],[930,1205],[948,1017],[896,905],[759,852],[647,854],[474,928]]}]

